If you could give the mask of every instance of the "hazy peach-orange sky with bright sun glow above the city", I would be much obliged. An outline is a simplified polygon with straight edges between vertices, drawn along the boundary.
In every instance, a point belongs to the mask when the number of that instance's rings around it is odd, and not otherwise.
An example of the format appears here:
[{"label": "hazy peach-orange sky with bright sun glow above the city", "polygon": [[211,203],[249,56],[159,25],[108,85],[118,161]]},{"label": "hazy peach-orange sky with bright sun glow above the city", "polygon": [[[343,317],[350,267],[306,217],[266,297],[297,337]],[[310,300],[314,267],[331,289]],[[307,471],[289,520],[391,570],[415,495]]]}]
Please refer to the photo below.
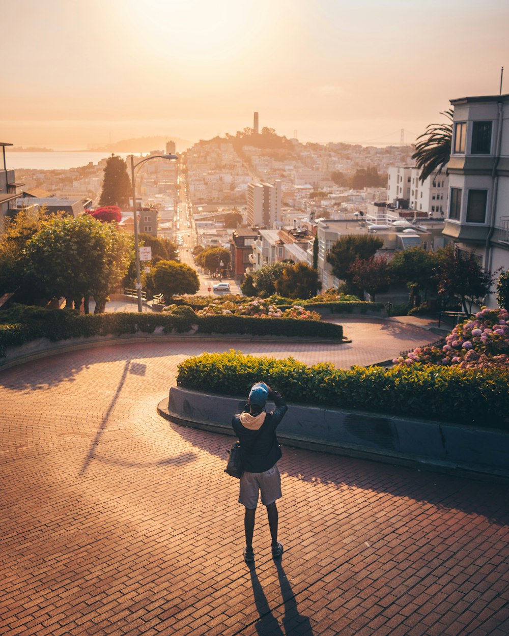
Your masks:
[{"label": "hazy peach-orange sky with bright sun glow above the city", "polygon": [[507,0],[0,0],[0,141],[414,141],[509,93]]}]

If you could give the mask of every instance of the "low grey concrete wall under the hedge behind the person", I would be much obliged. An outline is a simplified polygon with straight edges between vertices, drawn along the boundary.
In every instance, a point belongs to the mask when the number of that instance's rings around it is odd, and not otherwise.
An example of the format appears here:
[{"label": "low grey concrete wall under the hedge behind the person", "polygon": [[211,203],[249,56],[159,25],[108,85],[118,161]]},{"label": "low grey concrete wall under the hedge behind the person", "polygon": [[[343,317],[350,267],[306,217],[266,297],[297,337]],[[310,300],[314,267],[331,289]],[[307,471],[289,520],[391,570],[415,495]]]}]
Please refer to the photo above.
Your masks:
[{"label": "low grey concrete wall under the hedge behind the person", "polygon": [[[157,410],[175,424],[231,436],[232,415],[242,411],[244,404],[237,397],[172,387]],[[509,480],[509,434],[496,429],[299,404],[291,406],[277,436],[284,445],[296,448]]]}]

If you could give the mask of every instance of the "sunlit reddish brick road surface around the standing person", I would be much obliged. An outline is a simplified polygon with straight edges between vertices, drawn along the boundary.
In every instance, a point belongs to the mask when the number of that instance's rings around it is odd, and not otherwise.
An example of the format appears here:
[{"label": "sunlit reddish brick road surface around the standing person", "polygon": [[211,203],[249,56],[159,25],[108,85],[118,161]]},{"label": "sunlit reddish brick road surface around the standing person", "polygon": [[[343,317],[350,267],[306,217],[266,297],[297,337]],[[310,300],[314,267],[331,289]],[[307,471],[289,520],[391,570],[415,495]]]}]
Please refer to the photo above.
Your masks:
[{"label": "sunlit reddish brick road surface around the standing person", "polygon": [[0,634],[507,636],[502,485],[284,448],[285,552],[270,558],[260,509],[249,569],[229,439],[155,411],[199,351],[118,345],[0,373]]}]

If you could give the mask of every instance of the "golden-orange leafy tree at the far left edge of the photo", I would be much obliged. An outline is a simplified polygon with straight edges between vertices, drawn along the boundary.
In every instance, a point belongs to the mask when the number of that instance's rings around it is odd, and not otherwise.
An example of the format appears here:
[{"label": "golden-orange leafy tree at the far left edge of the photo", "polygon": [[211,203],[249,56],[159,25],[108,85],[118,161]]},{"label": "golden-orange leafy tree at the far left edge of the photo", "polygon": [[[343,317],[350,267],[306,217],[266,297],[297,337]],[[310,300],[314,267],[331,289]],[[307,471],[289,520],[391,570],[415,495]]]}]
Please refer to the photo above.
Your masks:
[{"label": "golden-orange leafy tree at the far left edge of the photo", "polygon": [[0,296],[16,292],[20,302],[36,303],[38,286],[25,270],[25,247],[38,230],[38,220],[24,211],[13,218],[4,219],[0,233]]}]

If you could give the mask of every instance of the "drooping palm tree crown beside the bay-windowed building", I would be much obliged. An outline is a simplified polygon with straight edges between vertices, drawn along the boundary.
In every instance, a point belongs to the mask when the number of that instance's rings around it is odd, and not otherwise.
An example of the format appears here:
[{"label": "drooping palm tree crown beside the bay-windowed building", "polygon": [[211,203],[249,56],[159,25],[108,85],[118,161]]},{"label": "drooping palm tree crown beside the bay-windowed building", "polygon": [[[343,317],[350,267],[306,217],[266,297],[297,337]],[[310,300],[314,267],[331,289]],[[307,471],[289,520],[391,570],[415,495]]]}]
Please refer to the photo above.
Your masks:
[{"label": "drooping palm tree crown beside the bay-windowed building", "polygon": [[449,163],[454,111],[449,109],[440,114],[449,118],[450,123],[431,123],[426,128],[426,132],[417,137],[417,140],[421,141],[415,144],[412,159],[416,160],[416,167],[421,169],[419,181],[426,181],[435,170],[438,170],[438,174],[442,174],[443,168]]}]

